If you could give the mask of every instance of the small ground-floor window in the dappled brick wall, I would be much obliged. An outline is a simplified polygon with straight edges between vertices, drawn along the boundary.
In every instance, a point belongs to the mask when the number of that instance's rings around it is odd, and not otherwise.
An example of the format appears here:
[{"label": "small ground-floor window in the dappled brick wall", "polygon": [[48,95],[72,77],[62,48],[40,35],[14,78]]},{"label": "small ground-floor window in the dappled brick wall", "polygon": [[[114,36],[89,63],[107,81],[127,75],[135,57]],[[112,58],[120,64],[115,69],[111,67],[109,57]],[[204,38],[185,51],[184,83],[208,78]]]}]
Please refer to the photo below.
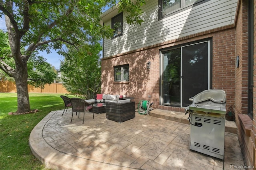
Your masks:
[{"label": "small ground-floor window in the dappled brick wall", "polygon": [[129,65],[119,65],[114,67],[114,81],[129,81]]}]

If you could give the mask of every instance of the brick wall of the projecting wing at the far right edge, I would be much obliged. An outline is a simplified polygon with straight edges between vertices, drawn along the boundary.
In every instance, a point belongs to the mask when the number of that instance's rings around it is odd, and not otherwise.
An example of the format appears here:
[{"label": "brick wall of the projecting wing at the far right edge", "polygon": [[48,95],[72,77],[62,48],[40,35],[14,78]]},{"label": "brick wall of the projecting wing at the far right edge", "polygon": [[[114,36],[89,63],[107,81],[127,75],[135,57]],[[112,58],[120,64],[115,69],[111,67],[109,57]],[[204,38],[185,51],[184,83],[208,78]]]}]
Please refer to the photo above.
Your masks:
[{"label": "brick wall of the projecting wing at the far right edge", "polygon": [[[252,124],[255,121],[250,121],[248,117],[248,3],[249,1],[239,0],[236,16],[236,55],[239,56],[239,67],[236,68],[236,90],[235,90],[235,113],[236,113],[236,125],[238,128],[238,139],[243,152],[244,161],[246,165],[253,165],[256,167],[255,161],[255,126],[251,129]],[[254,30],[255,30],[255,8],[256,3],[254,1]],[[256,76],[256,55],[255,55],[255,31],[254,31],[254,77]],[[254,78],[254,89],[255,82]],[[255,119],[255,90],[254,90],[254,116]],[[240,115],[244,114],[244,115]],[[246,118],[246,119],[242,119]],[[248,121],[249,120],[249,121]],[[248,132],[249,130],[249,132]],[[246,133],[247,132],[247,133]]]}]

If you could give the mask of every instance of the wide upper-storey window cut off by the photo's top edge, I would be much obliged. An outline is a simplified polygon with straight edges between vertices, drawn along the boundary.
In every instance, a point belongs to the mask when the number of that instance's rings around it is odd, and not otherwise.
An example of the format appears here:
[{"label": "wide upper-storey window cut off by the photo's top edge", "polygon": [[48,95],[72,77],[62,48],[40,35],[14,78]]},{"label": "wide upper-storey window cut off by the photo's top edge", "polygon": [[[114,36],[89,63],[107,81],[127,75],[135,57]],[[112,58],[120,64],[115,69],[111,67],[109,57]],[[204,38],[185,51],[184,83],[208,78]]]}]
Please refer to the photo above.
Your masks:
[{"label": "wide upper-storey window cut off by the photo's top edge", "polygon": [[201,1],[203,0],[158,0],[159,18]]}]

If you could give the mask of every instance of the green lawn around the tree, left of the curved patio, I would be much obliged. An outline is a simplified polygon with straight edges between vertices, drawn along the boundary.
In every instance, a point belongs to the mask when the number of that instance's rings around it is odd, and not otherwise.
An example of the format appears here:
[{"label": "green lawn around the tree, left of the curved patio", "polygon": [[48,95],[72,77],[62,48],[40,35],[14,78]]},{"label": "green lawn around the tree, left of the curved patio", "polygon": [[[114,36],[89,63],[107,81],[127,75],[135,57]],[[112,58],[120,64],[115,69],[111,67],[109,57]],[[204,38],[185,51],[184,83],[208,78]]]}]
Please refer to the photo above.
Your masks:
[{"label": "green lawn around the tree, left of the curved patio", "polygon": [[[32,129],[51,111],[64,109],[64,102],[56,93],[30,93],[30,109],[38,113],[8,115],[17,110],[17,93],[0,93],[0,169],[45,170],[34,157],[29,146]],[[74,96],[69,96],[74,97]]]}]

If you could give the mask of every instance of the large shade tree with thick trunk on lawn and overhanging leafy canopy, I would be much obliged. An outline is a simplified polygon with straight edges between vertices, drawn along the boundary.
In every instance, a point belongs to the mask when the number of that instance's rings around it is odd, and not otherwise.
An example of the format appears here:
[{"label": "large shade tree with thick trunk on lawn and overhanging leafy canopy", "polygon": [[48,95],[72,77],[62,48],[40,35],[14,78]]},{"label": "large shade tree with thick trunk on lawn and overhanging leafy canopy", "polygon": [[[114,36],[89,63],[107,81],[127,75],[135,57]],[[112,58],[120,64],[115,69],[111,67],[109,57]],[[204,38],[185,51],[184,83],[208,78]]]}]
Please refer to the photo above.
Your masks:
[{"label": "large shade tree with thick trunk on lawn and overhanging leafy canopy", "polygon": [[[143,4],[145,0],[120,0],[117,8],[125,12],[128,24],[141,24],[138,15],[142,12],[138,7]],[[5,17],[15,62],[12,67],[0,59],[0,68],[15,79],[17,113],[30,111],[28,59],[37,50],[61,51],[62,45],[68,44],[78,47],[90,42],[88,34],[112,37],[110,26],[100,25],[105,6],[116,6],[116,0],[0,0],[0,17]]]}]

